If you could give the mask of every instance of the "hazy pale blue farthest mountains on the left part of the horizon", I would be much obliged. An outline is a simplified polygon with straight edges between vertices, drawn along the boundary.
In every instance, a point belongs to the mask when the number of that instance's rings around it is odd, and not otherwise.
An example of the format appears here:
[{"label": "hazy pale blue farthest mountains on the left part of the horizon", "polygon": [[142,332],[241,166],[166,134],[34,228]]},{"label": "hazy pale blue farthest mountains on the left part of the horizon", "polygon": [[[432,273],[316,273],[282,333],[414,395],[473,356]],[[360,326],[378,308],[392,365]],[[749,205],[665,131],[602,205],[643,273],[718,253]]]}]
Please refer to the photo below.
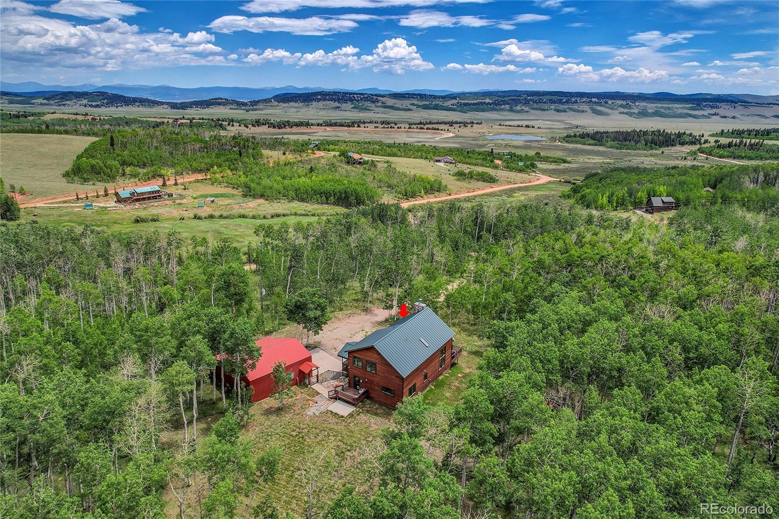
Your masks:
[{"label": "hazy pale blue farthest mountains on the left part of the horizon", "polygon": [[[28,94],[30,97],[58,94],[60,92],[108,92],[110,94],[120,94],[129,97],[146,97],[157,101],[196,101],[199,99],[211,99],[213,97],[224,97],[236,101],[254,101],[256,99],[268,99],[278,94],[318,92],[322,90],[329,90],[331,92],[358,92],[361,94],[397,93],[395,90],[386,90],[382,88],[351,90],[347,88],[294,87],[293,85],[288,85],[287,87],[181,88],[171,87],[170,85],[93,85],[92,83],[84,83],[83,85],[44,85],[34,81],[25,81],[24,83],[0,81],[0,90],[16,94]],[[445,95],[453,94],[454,91],[418,89],[404,90],[404,93]]]}]

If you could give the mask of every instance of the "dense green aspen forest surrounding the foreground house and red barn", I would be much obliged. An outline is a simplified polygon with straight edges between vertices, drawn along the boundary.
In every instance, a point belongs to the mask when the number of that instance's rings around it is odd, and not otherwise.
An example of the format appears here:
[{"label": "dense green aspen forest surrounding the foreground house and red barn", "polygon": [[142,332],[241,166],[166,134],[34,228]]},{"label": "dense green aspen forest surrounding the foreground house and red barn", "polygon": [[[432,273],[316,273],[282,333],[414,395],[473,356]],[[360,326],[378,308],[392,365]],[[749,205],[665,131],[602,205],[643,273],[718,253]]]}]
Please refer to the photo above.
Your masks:
[{"label": "dense green aspen forest surrounding the foreground house and red barn", "polygon": [[[208,370],[219,352],[243,369],[308,288],[422,298],[489,344],[456,402],[394,413],[375,479],[314,501],[320,517],[779,506],[775,217],[688,207],[666,229],[555,205],[379,204],[256,235],[264,312],[224,243],[0,227],[4,515],[160,517],[164,489],[187,517],[251,514],[285,453],[241,439],[245,406]],[[194,452],[160,442],[224,407]]]}]

